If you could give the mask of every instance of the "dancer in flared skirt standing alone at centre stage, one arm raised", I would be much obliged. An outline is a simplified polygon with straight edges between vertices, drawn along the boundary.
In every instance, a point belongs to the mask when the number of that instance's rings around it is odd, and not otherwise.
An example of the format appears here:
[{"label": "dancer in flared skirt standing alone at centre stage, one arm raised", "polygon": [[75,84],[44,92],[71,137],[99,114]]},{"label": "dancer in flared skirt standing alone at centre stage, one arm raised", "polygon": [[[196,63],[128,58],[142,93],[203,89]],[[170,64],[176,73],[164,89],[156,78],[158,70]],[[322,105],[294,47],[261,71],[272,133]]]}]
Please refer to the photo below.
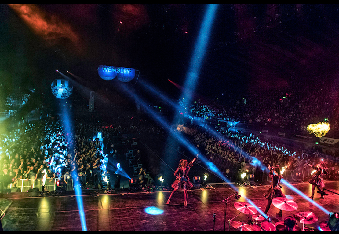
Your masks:
[{"label": "dancer in flared skirt standing alone at centre stage, one arm raised", "polygon": [[187,205],[187,189],[191,189],[193,184],[191,183],[190,179],[188,178],[187,174],[190,171],[191,167],[193,166],[194,161],[197,160],[196,158],[193,159],[192,162],[187,164],[186,159],[181,159],[179,162],[179,167],[174,172],[174,176],[177,179],[173,182],[172,187],[174,188],[173,192],[169,196],[166,204],[169,205],[171,202],[171,198],[173,194],[179,189],[184,191],[184,205]]}]

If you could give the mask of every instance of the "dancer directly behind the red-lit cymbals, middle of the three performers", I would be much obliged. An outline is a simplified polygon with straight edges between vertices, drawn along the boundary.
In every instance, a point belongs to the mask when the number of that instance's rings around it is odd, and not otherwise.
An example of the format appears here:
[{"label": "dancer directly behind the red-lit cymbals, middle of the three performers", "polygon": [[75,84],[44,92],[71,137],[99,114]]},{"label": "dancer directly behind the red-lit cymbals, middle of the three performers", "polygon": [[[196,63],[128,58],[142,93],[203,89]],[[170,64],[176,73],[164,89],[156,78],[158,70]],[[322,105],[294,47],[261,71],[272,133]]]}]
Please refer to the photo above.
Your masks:
[{"label": "dancer directly behind the red-lit cymbals, middle of the three performers", "polygon": [[[268,168],[270,169],[269,176],[272,178],[271,185],[268,187],[267,193],[264,196],[268,199],[265,214],[267,214],[268,210],[270,210],[272,200],[276,197],[285,197],[285,195],[281,192],[281,186],[279,185],[282,175],[280,175],[280,168],[277,165],[276,167],[271,167],[268,164]],[[282,210],[277,213],[278,216],[282,216]]]}]

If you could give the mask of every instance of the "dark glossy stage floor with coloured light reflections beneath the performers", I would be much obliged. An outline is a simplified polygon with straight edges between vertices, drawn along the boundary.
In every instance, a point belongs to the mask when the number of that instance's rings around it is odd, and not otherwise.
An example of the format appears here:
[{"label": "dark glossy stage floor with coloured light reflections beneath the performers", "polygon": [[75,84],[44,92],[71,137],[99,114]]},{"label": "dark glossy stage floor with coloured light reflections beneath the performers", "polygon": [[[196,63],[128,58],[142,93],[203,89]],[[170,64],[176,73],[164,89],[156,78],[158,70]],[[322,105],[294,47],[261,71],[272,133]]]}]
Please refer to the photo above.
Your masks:
[{"label": "dark glossy stage floor with coloured light reflections beneath the performers", "polygon": [[[262,211],[265,210],[267,199],[263,193],[268,185],[243,187],[233,184],[239,189],[239,194],[251,199]],[[338,193],[338,181],[326,181],[325,188]],[[311,195],[312,186],[305,182],[294,184],[305,195]],[[319,225],[328,220],[328,214],[316,205],[305,200],[301,195],[283,185],[285,195],[295,203],[295,211],[283,211],[282,217],[276,217],[279,212],[273,204],[268,212],[275,224],[283,221],[286,216],[297,212],[313,212],[318,219],[314,223],[305,224],[307,229],[319,231]],[[316,189],[317,191],[317,189]],[[228,184],[212,184],[207,190],[188,191],[188,204],[183,205],[184,194],[178,191],[174,194],[171,204],[166,205],[171,191],[143,192],[112,191],[111,194],[91,191],[82,196],[86,227],[88,231],[223,231],[225,203],[223,199],[234,194]],[[326,193],[330,193],[326,191]],[[10,194],[0,199],[0,209],[5,212],[2,219],[4,231],[81,231],[77,199],[74,194],[28,197],[28,193]],[[26,197],[23,197],[26,195]],[[339,196],[315,194],[315,202],[330,212],[338,212]],[[246,202],[244,197],[235,200],[234,196],[227,203],[225,230],[228,231],[228,220],[237,216],[234,221],[248,223],[250,214],[241,213],[235,208],[235,202]],[[148,209],[147,209],[148,208]],[[148,212],[148,213],[147,213]],[[213,221],[213,214],[215,222]],[[260,215],[260,213],[257,213]],[[258,221],[260,222],[263,221]],[[236,222],[232,223],[235,226]],[[215,226],[214,226],[215,225]],[[298,222],[302,228],[302,223]],[[230,226],[231,231],[238,231]]]}]

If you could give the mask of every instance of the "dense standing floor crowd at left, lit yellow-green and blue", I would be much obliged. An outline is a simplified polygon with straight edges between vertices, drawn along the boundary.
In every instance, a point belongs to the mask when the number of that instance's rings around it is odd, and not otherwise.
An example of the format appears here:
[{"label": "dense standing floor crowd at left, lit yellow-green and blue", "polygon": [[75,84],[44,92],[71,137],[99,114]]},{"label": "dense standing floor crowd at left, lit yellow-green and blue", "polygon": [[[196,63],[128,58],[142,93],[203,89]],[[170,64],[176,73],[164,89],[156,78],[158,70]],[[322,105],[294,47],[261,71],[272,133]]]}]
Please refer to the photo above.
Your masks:
[{"label": "dense standing floor crowd at left, lit yellow-green and blue", "polygon": [[[161,128],[137,115],[102,118],[79,118],[74,129],[65,128],[59,116],[12,126],[0,134],[0,190],[20,179],[35,180],[46,177],[64,184],[72,177],[83,186],[102,186],[109,183],[106,171],[107,156],[114,157],[113,139],[124,133],[153,133],[163,135]],[[73,133],[74,132],[74,133]],[[97,138],[97,133],[103,139]],[[110,151],[107,151],[108,147]],[[104,154],[105,151],[105,154]],[[6,180],[7,178],[7,180]],[[12,181],[12,178],[13,181]]]}]

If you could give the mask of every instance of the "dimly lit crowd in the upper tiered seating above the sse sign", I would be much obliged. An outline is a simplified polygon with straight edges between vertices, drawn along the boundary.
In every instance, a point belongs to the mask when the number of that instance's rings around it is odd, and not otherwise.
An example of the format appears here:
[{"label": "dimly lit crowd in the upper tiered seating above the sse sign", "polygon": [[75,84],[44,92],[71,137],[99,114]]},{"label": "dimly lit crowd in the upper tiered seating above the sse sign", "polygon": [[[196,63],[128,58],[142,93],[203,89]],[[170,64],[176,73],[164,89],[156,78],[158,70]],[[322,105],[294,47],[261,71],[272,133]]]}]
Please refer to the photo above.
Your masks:
[{"label": "dimly lit crowd in the upper tiered seating above the sse sign", "polygon": [[271,125],[306,132],[311,123],[329,122],[331,132],[339,132],[338,91],[321,79],[298,81],[288,87],[275,87],[262,92],[250,89],[245,97],[219,96],[214,100],[199,99],[192,105],[180,100],[186,113],[195,116],[237,120],[244,123]]}]

